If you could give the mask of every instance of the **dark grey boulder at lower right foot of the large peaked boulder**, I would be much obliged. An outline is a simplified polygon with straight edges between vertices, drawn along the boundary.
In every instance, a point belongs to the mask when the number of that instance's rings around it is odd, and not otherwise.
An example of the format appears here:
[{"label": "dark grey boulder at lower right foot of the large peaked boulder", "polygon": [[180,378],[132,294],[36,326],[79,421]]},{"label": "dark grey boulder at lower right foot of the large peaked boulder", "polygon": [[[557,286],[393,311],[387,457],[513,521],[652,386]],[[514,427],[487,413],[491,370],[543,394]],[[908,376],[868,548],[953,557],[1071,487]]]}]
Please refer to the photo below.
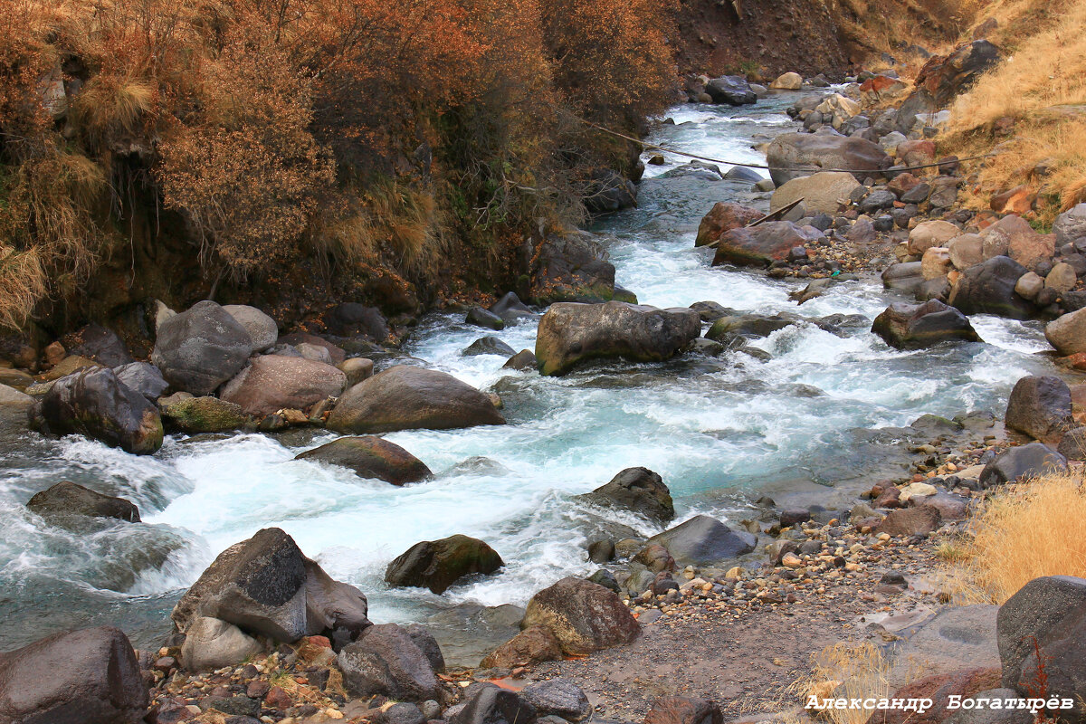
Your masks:
[{"label": "dark grey boulder at lower right foot of the large peaked boulder", "polygon": [[441,696],[433,664],[403,626],[370,626],[358,640],[343,647],[337,664],[352,697],[386,696],[401,701],[426,701]]}]

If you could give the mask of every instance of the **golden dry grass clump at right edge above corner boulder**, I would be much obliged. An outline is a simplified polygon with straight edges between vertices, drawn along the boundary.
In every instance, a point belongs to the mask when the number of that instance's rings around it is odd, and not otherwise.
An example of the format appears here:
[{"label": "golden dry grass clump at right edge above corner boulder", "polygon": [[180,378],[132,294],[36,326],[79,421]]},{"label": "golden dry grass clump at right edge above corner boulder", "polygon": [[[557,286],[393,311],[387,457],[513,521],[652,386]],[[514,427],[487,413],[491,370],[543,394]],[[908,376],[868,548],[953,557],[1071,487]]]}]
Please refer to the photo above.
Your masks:
[{"label": "golden dry grass clump at right edge above corner boulder", "polygon": [[973,520],[964,560],[945,571],[960,602],[1002,604],[1043,575],[1086,576],[1086,487],[1048,475],[1008,486]]}]

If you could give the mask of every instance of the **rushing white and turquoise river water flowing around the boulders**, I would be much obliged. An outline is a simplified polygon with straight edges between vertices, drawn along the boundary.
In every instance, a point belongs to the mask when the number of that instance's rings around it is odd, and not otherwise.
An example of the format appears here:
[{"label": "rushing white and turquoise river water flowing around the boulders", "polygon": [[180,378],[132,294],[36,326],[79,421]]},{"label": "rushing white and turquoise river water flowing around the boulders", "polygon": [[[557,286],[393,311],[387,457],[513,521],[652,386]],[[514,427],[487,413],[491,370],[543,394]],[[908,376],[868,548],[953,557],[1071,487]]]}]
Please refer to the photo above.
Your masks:
[{"label": "rushing white and turquoise river water flowing around the boulders", "polygon": [[[795,98],[742,110],[675,109],[675,124],[653,140],[758,163],[763,156],[752,143],[793,128],[783,109]],[[748,182],[659,178],[683,162],[651,166],[639,207],[594,229],[609,244],[618,282],[660,307],[715,301],[758,313],[796,310],[787,293],[799,282],[711,268],[709,252],[694,249],[697,223],[714,202],[768,201],[753,199]],[[800,312],[872,319],[895,299],[879,283],[850,281]],[[388,435],[438,473],[407,487],[292,459],[332,437],[326,433],[169,437],[153,457],[74,436],[0,436],[0,648],[97,623],[119,625],[137,646],[156,645],[179,592],[228,545],[270,525],[364,590],[370,618],[383,622],[421,620],[464,601],[523,605],[557,579],[593,570],[583,551],[593,530],[653,533],[570,499],[627,467],[662,475],[679,520],[694,512],[737,519],[762,492],[815,491],[818,499],[821,491],[829,503],[830,486],[874,474],[880,445],[889,445],[854,429],[904,425],[924,412],[998,412],[1015,380],[1048,368],[1034,354],[1047,348],[1038,326],[973,322],[985,344],[902,353],[866,328],[836,336],[799,326],[756,343],[770,361],[737,354],[541,378],[503,369],[503,357],[460,356],[485,332],[464,325],[463,315],[433,315],[405,351],[498,392],[509,424]],[[532,348],[535,323],[496,334],[516,350]],[[23,504],[61,480],[131,499],[143,523],[47,525]],[[384,588],[392,558],[454,533],[488,541],[506,568],[444,596]]]}]

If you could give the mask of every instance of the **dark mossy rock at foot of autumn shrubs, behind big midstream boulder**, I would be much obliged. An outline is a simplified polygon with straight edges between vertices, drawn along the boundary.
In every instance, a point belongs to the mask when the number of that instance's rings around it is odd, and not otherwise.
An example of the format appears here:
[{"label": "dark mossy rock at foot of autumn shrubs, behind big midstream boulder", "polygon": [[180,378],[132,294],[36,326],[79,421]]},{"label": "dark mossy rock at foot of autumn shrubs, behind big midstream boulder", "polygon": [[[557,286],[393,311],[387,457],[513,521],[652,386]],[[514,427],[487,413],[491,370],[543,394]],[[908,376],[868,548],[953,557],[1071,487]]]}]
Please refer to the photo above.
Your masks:
[{"label": "dark mossy rock at foot of autumn shrubs, behind big midstream boulder", "polygon": [[586,231],[552,234],[531,261],[531,302],[607,302],[615,296],[615,266]]}]

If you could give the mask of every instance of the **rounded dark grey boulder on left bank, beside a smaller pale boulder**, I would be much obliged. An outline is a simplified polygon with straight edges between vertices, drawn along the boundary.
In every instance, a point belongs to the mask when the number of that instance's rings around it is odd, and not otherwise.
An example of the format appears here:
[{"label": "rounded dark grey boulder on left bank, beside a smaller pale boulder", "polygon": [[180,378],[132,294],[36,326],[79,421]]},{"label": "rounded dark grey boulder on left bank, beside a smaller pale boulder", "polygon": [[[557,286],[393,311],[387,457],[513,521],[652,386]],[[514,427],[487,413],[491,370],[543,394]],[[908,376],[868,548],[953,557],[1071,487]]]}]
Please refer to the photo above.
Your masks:
[{"label": "rounded dark grey boulder on left bank, beside a smaller pale boulder", "polygon": [[205,300],[159,325],[151,361],[174,389],[206,395],[241,371],[252,351],[245,328]]}]

